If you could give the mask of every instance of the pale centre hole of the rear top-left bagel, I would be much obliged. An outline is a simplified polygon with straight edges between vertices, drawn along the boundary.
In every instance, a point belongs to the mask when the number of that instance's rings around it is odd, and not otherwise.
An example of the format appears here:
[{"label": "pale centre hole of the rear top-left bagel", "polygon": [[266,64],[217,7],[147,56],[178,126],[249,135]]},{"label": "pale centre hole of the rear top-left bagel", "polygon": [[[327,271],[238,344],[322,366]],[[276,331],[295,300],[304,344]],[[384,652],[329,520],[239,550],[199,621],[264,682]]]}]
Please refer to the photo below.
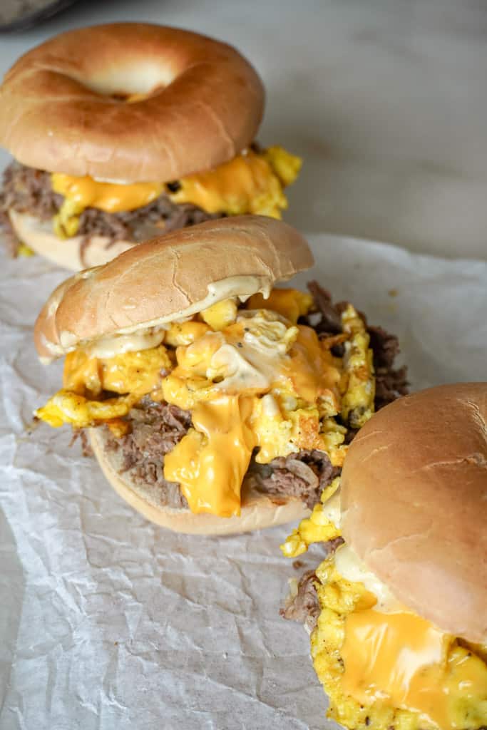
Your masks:
[{"label": "pale centre hole of the rear top-left bagel", "polygon": [[83,84],[101,96],[130,104],[160,93],[173,80],[169,69],[160,66],[133,64],[130,67],[110,69],[83,80]]}]

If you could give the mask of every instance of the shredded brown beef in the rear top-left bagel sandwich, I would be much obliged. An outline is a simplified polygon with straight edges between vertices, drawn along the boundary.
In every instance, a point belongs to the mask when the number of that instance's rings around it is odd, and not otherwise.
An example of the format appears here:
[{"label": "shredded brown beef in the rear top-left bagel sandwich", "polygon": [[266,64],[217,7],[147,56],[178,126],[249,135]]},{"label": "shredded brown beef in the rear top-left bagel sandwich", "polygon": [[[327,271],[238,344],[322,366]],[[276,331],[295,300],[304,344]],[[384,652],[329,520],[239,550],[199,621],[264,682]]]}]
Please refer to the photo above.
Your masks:
[{"label": "shredded brown beef in the rear top-left bagel sandwich", "polygon": [[[10,208],[36,216],[40,220],[52,220],[63,203],[63,196],[54,193],[50,173],[26,167],[18,162],[10,164],[4,172],[0,191],[0,226],[9,240],[9,248],[15,255],[20,241],[15,236],[7,212]],[[107,247],[117,241],[139,242],[154,234],[154,227],[164,232],[185,228],[204,220],[223,218],[221,213],[207,213],[196,205],[173,203],[161,195],[152,203],[136,210],[107,213],[97,208],[85,208],[80,214],[83,254],[93,236],[108,239]],[[83,256],[82,256],[83,261]]]}]

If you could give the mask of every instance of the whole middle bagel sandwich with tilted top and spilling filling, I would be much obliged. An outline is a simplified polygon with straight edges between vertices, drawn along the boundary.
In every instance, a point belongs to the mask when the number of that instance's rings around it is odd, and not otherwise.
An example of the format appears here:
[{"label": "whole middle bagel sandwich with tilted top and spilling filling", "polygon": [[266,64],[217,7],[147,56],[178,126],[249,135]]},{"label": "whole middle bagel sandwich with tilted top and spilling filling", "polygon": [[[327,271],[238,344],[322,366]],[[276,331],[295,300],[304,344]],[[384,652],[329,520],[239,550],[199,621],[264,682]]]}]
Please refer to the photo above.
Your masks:
[{"label": "whole middle bagel sandwich with tilted top and spilling filling", "polygon": [[109,482],[171,529],[306,515],[356,429],[405,388],[396,339],[352,304],[317,283],[275,288],[312,263],[294,228],[237,216],[74,274],[34,328],[43,361],[66,357],[37,418],[89,429]]}]

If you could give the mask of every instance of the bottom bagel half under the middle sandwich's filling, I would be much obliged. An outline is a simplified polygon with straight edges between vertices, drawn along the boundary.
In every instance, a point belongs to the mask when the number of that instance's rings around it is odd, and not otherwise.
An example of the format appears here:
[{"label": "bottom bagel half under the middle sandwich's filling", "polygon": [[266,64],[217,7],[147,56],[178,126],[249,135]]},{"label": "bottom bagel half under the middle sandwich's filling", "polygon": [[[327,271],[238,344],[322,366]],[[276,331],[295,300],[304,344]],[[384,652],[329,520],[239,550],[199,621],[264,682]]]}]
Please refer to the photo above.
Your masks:
[{"label": "bottom bagel half under the middle sandwich's filling", "polygon": [[294,522],[310,514],[310,510],[296,497],[280,496],[272,499],[256,491],[250,480],[242,485],[240,517],[195,515],[188,509],[168,507],[161,503],[157,487],[136,484],[127,472],[120,474],[117,454],[105,448],[107,437],[104,429],[90,429],[90,439],[101,471],[122,499],[147,520],[175,532],[229,535]]}]

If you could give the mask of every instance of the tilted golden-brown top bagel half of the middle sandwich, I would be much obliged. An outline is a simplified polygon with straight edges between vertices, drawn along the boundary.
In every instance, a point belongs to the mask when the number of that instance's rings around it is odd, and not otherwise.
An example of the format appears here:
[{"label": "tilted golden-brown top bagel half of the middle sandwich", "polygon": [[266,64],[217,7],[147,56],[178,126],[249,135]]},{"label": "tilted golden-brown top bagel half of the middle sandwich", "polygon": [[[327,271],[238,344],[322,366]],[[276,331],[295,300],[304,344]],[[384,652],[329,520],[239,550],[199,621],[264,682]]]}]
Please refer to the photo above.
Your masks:
[{"label": "tilted golden-brown top bagel half of the middle sandwich", "polygon": [[312,264],[301,234],[275,218],[242,215],[182,228],[62,283],[37,318],[37,352],[59,357],[83,342],[180,317],[217,282],[252,277],[252,291],[235,293],[265,291]]}]

